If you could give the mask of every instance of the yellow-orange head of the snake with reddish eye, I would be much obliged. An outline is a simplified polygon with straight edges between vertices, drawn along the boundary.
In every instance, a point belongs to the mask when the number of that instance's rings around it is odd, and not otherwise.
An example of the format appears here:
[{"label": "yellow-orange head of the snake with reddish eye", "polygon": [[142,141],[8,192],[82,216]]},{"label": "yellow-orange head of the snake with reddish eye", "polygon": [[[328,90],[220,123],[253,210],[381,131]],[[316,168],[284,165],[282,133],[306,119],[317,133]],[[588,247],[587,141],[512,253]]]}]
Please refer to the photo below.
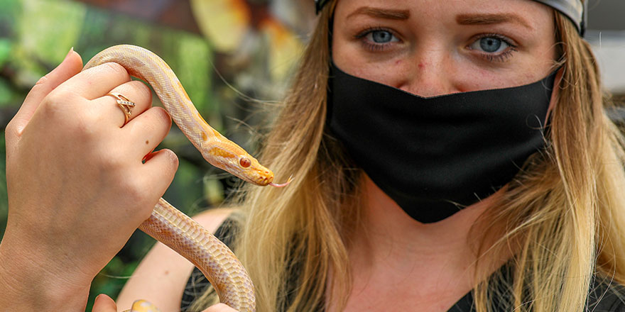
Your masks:
[{"label": "yellow-orange head of the snake with reddish eye", "polygon": [[244,149],[232,142],[202,145],[202,156],[211,165],[223,169],[245,182],[266,186],[273,182],[273,172]]}]

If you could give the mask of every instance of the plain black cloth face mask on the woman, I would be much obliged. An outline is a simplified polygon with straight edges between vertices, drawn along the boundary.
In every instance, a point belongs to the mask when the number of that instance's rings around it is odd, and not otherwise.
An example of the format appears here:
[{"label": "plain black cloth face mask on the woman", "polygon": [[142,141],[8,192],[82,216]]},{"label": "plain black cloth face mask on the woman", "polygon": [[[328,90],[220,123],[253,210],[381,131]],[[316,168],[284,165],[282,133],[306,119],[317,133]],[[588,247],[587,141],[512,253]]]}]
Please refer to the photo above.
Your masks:
[{"label": "plain black cloth face mask on the woman", "polygon": [[423,98],[333,64],[327,122],[384,193],[433,223],[501,189],[545,145],[554,79]]}]

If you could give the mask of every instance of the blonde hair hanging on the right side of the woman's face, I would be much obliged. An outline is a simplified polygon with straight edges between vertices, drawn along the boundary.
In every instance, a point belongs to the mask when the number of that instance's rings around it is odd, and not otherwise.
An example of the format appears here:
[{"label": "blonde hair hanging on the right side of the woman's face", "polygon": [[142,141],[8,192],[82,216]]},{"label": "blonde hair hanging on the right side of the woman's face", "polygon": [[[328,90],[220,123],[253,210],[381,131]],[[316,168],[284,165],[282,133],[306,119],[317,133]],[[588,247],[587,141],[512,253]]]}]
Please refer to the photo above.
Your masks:
[{"label": "blonde hair hanging on the right side of the woman's face", "polygon": [[548,146],[474,225],[500,238],[480,246],[480,261],[513,251],[513,283],[505,272],[484,279],[474,289],[477,311],[491,311],[498,296],[511,298],[509,310],[582,311],[593,278],[625,282],[624,140],[605,113],[589,44],[560,13],[555,24],[562,79]]}]

